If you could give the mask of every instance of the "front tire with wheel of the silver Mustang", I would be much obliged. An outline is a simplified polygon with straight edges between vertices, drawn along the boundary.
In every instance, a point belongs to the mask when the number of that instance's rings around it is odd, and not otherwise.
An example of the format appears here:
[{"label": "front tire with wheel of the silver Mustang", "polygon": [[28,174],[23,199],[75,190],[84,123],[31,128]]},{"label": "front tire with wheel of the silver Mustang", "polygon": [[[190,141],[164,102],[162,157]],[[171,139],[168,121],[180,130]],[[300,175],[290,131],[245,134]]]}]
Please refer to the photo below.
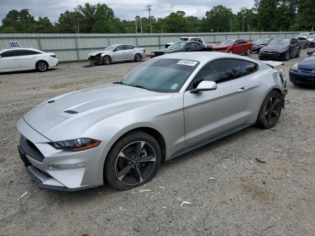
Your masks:
[{"label": "front tire with wheel of the silver Mustang", "polygon": [[157,140],[142,131],[130,132],[118,140],[108,153],[104,179],[118,190],[135,188],[156,175],[160,162],[161,149]]}]

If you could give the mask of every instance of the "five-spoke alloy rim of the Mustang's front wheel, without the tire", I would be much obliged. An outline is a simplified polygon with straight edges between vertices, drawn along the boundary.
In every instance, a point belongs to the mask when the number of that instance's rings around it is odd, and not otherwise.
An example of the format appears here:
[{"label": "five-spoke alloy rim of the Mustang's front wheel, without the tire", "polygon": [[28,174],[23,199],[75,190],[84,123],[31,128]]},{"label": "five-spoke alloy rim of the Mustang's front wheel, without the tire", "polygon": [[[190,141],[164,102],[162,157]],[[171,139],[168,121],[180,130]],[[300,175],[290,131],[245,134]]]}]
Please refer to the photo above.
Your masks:
[{"label": "five-spoke alloy rim of the Mustang's front wheel, without the tire", "polygon": [[123,148],[116,158],[115,174],[126,185],[139,184],[152,173],[156,153],[147,142],[137,141]]}]

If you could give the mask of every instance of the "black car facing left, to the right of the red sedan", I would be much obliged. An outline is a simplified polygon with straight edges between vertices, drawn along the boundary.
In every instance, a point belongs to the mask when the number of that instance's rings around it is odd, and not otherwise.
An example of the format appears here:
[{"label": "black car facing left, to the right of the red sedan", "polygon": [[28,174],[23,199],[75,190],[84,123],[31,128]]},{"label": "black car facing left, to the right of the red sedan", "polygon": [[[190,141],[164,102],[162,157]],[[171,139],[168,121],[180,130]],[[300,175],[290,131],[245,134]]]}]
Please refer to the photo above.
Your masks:
[{"label": "black car facing left, to the right of the red sedan", "polygon": [[274,38],[267,46],[260,49],[258,58],[288,60],[300,57],[301,46],[296,38]]}]

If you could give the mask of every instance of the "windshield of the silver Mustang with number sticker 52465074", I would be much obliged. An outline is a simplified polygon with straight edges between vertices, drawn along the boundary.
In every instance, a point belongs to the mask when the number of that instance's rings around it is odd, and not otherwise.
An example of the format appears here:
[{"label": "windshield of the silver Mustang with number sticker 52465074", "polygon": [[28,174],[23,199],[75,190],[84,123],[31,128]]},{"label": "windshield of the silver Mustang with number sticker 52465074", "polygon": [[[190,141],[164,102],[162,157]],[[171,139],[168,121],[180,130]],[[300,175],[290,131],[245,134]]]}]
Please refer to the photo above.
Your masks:
[{"label": "windshield of the silver Mustang with number sticker 52465074", "polygon": [[179,92],[199,61],[153,59],[140,65],[119,82],[156,92]]}]

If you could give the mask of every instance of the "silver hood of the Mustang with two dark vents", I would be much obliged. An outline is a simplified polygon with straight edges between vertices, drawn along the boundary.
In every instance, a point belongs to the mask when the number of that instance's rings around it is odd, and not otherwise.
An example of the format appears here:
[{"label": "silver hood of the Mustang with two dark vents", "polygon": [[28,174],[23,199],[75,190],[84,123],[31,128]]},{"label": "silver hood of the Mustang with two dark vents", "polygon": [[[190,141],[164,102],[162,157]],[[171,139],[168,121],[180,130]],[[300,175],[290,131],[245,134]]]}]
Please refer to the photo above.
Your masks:
[{"label": "silver hood of the Mustang with two dark vents", "polygon": [[[81,136],[85,131],[106,118],[122,113],[126,115],[127,111],[172,97],[172,93],[108,84],[52,98],[48,100],[50,103],[45,101],[33,108],[24,119],[33,129],[54,142],[84,138]],[[72,114],[64,111],[72,111]]]}]

